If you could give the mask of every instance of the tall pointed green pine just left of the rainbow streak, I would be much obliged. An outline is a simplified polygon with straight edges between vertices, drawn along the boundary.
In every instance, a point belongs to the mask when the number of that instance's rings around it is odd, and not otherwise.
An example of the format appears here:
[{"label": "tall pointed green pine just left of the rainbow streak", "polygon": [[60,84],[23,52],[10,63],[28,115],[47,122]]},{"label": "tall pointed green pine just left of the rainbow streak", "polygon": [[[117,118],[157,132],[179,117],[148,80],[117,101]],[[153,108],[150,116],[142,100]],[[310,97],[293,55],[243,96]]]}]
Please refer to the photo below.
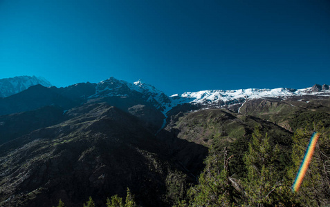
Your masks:
[{"label": "tall pointed green pine just left of the rainbow streak", "polygon": [[255,128],[248,152],[244,156],[248,175],[244,179],[244,196],[251,206],[286,206],[291,201],[290,186],[287,184],[285,171],[279,166],[279,146],[271,145],[266,134]]}]

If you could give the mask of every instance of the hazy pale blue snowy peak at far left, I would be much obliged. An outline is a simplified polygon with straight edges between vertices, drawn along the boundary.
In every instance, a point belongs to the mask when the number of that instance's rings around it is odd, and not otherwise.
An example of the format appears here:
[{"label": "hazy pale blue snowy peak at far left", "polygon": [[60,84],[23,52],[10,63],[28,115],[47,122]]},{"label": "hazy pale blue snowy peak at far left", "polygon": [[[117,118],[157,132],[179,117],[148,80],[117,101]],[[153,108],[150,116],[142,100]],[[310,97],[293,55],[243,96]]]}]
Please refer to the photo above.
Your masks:
[{"label": "hazy pale blue snowy peak at far left", "polygon": [[42,85],[46,87],[52,86],[49,81],[43,77],[19,76],[8,79],[0,79],[0,97],[9,97],[15,95],[30,86]]}]

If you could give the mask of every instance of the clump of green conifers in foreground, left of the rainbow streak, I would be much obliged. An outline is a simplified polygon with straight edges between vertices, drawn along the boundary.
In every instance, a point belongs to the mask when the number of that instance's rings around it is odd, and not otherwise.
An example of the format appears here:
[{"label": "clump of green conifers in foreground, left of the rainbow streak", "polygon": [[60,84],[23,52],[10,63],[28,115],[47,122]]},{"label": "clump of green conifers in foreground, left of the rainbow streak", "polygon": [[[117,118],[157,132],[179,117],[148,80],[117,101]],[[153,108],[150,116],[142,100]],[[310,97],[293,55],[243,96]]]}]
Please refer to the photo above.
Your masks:
[{"label": "clump of green conifers in foreground, left of the rainbow streak", "polygon": [[192,186],[187,200],[177,206],[295,206],[298,203],[280,160],[283,151],[255,128],[240,166],[246,168],[246,175],[238,176],[232,172],[234,151],[211,146],[199,184]]}]

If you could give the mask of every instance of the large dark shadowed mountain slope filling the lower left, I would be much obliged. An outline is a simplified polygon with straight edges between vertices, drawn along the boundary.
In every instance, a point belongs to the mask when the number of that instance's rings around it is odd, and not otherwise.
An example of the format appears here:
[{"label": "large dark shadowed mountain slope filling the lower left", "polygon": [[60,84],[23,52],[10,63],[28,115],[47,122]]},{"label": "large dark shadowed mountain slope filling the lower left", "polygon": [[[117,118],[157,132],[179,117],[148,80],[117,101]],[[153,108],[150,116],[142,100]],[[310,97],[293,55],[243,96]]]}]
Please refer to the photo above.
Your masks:
[{"label": "large dark shadowed mountain slope filling the lower left", "polygon": [[[105,103],[65,116],[0,146],[0,206],[52,206],[59,199],[82,206],[89,196],[104,205],[127,187],[143,206],[167,206],[194,181],[169,143],[155,139],[136,117]],[[194,157],[199,150],[186,151]]]}]

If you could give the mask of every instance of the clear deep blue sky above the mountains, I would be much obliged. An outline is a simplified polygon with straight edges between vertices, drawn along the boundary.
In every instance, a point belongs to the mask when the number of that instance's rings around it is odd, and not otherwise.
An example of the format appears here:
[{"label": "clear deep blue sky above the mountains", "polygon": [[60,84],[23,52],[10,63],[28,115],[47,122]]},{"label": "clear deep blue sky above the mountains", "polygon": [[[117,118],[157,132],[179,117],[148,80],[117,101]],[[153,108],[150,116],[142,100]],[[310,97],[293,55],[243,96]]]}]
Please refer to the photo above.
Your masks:
[{"label": "clear deep blue sky above the mountains", "polygon": [[0,79],[167,95],[330,84],[329,0],[0,0]]}]

